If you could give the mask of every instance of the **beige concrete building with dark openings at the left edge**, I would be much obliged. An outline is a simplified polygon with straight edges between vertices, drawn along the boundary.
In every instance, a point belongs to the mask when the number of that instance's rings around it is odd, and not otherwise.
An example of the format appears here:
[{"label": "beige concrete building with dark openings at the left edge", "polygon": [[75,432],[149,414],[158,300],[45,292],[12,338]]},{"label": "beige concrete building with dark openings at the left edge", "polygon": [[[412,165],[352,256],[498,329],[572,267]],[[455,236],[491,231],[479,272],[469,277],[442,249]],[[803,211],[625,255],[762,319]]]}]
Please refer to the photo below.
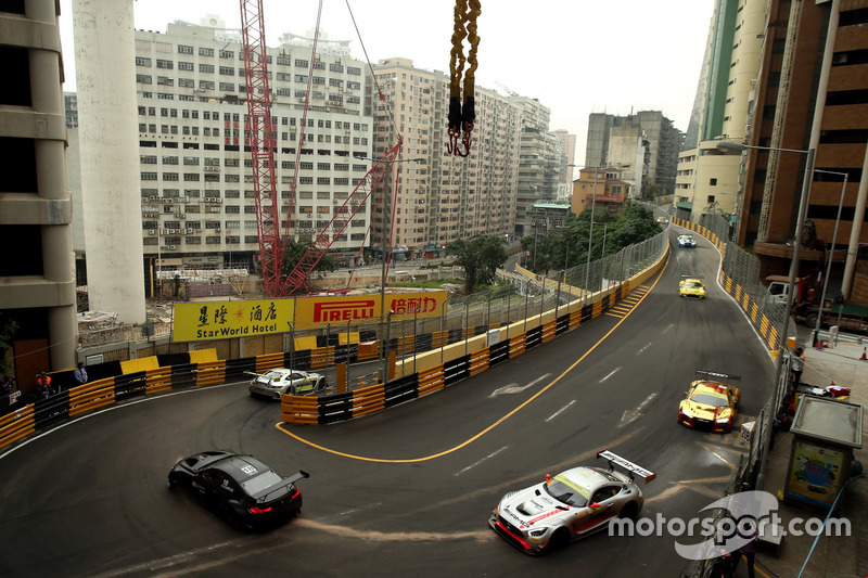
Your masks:
[{"label": "beige concrete building with dark openings at the left edge", "polygon": [[75,367],[58,11],[54,0],[0,3],[0,332],[10,332],[5,361],[25,391],[36,373]]}]

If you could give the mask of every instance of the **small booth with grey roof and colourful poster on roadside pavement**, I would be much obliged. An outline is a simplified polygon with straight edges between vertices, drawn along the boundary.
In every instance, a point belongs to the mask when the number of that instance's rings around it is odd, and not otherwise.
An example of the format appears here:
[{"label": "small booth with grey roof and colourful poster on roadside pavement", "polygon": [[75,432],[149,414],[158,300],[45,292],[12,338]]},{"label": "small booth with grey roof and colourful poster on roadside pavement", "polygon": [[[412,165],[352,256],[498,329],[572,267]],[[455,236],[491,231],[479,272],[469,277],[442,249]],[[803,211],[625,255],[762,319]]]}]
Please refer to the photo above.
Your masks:
[{"label": "small booth with grey roof and colourful poster on roadside pavement", "polygon": [[783,501],[829,510],[861,448],[861,406],[803,395],[795,410]]}]

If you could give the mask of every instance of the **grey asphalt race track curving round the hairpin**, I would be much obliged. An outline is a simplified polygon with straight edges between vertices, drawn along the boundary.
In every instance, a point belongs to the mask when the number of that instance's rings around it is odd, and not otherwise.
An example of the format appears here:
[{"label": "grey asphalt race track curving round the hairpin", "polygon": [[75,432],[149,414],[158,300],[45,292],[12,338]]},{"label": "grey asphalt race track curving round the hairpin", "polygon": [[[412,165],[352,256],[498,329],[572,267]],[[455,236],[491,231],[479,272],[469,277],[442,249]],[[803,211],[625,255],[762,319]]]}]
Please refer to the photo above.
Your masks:
[{"label": "grey asphalt race track curving round the hairpin", "polygon": [[[687,521],[722,497],[746,447],[738,432],[679,426],[678,401],[697,369],[741,375],[750,421],[774,365],[717,286],[719,254],[698,239],[673,248],[630,307],[379,414],[278,425],[279,406],[244,382],[114,407],[21,444],[0,455],[0,575],[677,576],[687,561],[674,542],[700,537],[600,532],[534,558],[487,518],[505,492],[604,448],[658,473],[646,517]],[[688,273],[704,275],[705,300],[678,297]],[[171,465],[204,449],[310,472],[302,515],[242,534],[168,491]]]}]

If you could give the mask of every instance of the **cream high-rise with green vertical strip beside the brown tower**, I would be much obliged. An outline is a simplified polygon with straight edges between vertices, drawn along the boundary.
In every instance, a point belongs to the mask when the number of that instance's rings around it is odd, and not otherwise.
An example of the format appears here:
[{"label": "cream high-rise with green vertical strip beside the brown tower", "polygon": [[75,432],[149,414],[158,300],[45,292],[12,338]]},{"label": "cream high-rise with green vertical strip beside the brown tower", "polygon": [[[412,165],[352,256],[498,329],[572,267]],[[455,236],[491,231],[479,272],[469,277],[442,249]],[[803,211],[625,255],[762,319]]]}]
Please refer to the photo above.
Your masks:
[{"label": "cream high-rise with green vertical strip beside the brown tower", "polygon": [[741,141],[760,69],[768,0],[716,0],[688,138],[678,157],[675,204],[682,211],[733,215],[739,158],[717,142]]}]

